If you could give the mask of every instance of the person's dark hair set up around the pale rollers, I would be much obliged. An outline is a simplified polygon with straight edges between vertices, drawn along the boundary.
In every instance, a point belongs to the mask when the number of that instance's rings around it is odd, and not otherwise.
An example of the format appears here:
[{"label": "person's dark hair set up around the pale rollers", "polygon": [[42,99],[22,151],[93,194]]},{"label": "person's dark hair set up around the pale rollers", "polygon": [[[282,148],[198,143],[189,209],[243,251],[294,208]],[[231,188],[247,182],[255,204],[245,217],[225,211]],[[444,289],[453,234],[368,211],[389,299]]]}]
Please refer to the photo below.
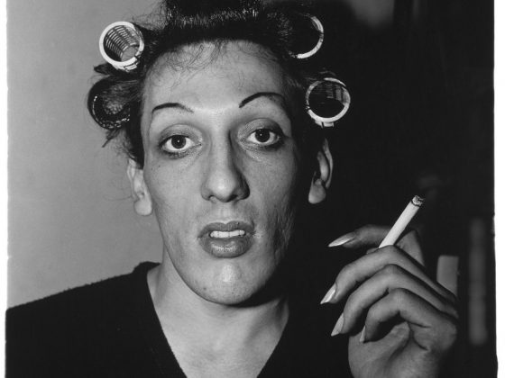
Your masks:
[{"label": "person's dark hair set up around the pale rollers", "polygon": [[[90,89],[87,107],[95,121],[106,128],[106,143],[122,135],[128,157],[143,166],[140,119],[146,77],[161,55],[177,54],[185,46],[203,42],[219,47],[227,41],[244,40],[267,49],[284,69],[300,114],[306,116],[304,94],[314,70],[306,59],[294,58],[305,48],[303,44],[310,34],[318,33],[308,27],[306,8],[299,4],[263,5],[259,0],[165,0],[160,14],[159,20],[149,25],[135,24],[142,32],[145,47],[133,71],[124,72],[109,63],[95,67],[102,77]],[[97,100],[101,109],[106,109],[107,119],[97,113]],[[107,121],[111,113],[112,125]],[[320,141],[320,129],[308,116],[299,123],[296,133],[303,145]]]}]

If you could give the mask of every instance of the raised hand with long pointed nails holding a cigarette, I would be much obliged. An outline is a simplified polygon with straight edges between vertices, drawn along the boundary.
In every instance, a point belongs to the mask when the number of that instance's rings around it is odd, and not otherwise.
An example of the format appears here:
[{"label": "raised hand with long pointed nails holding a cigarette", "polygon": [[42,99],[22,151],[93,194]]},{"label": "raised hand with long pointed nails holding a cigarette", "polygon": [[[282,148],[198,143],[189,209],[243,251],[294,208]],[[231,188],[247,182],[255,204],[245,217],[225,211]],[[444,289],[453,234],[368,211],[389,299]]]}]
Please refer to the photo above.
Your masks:
[{"label": "raised hand with long pointed nails holding a cigarette", "polygon": [[[387,228],[366,226],[343,247],[378,246]],[[323,302],[344,301],[332,335],[350,334],[354,377],[436,377],[456,338],[456,299],[427,276],[415,232],[344,266]]]}]

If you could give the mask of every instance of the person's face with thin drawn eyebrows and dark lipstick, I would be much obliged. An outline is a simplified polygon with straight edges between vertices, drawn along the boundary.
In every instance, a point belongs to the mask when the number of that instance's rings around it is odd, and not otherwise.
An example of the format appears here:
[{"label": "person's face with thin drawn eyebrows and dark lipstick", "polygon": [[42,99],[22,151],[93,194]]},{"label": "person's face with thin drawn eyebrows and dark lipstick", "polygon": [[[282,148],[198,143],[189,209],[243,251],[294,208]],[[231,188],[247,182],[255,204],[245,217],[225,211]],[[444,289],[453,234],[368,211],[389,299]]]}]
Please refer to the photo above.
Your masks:
[{"label": "person's face with thin drawn eyebrows and dark lipstick", "polygon": [[159,59],[144,90],[143,180],[170,275],[208,301],[236,304],[280,266],[307,201],[292,102],[280,67],[256,45],[189,47],[178,58],[188,67]]}]

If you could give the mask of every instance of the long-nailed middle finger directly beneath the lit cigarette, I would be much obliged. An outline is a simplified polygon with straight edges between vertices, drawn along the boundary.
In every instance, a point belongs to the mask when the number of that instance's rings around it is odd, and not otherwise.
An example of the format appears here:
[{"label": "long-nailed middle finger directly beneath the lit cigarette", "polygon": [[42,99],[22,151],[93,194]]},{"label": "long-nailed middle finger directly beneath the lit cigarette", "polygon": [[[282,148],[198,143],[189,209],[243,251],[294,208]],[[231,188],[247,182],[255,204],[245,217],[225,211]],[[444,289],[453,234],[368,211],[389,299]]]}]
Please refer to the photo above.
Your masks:
[{"label": "long-nailed middle finger directly beneath the lit cigarette", "polygon": [[[445,300],[455,303],[453,293],[450,293],[443,286],[431,280],[416,260],[409,257],[409,255],[401,251],[398,247],[393,246],[382,247],[376,253],[360,257],[353,261],[353,263],[344,266],[336,276],[335,288],[332,286],[332,289],[335,289],[335,291],[330,298],[326,298],[326,302],[339,302],[349,295],[356,286],[389,265],[403,268],[405,271],[409,272],[410,275],[414,275],[427,284],[427,286],[445,298]],[[326,296],[328,294],[326,294]]]}]

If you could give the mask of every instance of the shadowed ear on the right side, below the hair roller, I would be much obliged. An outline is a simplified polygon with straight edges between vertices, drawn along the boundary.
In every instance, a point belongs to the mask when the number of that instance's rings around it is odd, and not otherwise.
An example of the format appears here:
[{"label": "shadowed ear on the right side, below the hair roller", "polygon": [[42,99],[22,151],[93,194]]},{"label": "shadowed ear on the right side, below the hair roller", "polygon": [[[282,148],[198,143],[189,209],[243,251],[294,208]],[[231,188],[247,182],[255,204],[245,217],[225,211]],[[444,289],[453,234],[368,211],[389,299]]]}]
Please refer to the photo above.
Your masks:
[{"label": "shadowed ear on the right side, below the hair roller", "polygon": [[308,202],[316,204],[326,198],[326,192],[331,184],[333,173],[333,157],[326,138],[317,151],[317,166],[308,191]]}]

